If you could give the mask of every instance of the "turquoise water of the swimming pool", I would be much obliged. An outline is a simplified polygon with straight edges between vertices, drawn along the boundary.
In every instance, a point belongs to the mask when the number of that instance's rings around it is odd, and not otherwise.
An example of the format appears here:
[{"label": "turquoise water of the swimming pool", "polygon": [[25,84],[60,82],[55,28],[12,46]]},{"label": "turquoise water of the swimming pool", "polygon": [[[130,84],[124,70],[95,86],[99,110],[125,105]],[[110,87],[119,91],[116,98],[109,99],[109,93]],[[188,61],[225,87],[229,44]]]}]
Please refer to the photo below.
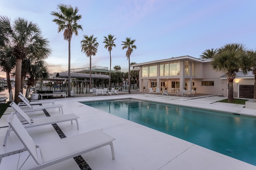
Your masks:
[{"label": "turquoise water of the swimming pool", "polygon": [[256,118],[133,99],[81,103],[256,165]]}]

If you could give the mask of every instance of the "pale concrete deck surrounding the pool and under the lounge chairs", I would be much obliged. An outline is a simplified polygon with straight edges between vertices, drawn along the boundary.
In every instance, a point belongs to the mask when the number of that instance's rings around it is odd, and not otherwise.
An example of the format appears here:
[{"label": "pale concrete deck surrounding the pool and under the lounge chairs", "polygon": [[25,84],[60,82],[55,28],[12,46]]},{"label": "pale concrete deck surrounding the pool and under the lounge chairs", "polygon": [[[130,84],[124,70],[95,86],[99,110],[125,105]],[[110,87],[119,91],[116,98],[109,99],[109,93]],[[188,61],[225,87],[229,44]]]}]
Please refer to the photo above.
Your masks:
[{"label": "pale concrete deck surrounding the pool and under the lounge chairs", "polygon": [[[112,160],[109,146],[82,154],[82,157],[92,170],[256,170],[256,166],[246,162],[79,103],[79,101],[121,98],[136,98],[256,116],[256,109],[244,108],[244,105],[217,102],[226,99],[226,97],[220,96],[180,98],[154,94],[127,94],[55,99],[56,104],[64,105],[64,114],[74,113],[80,117],[78,119],[79,130],[76,129],[76,123],[58,123],[58,126],[67,137],[102,129],[103,132],[116,139],[113,141],[116,156],[114,160]],[[3,127],[0,128],[0,154],[23,148],[22,143],[14,132],[10,133],[6,147],[2,145],[7,130],[5,126],[8,126],[6,118],[8,113],[12,111],[12,108],[9,107],[0,119],[0,127]],[[50,115],[61,114],[58,109],[47,109],[47,111]],[[33,118],[45,116],[43,111],[31,112],[28,115]],[[60,139],[52,125],[29,128],[27,131],[36,144]],[[86,139],[84,139],[84,142],[86,142]],[[21,154],[21,160],[25,159],[25,155],[27,156],[25,152]],[[0,169],[15,169],[17,160],[18,154],[3,158]],[[36,163],[29,157],[22,169],[29,169],[35,166]],[[53,169],[79,170],[80,168],[74,159],[69,159],[44,168],[44,170]]]}]

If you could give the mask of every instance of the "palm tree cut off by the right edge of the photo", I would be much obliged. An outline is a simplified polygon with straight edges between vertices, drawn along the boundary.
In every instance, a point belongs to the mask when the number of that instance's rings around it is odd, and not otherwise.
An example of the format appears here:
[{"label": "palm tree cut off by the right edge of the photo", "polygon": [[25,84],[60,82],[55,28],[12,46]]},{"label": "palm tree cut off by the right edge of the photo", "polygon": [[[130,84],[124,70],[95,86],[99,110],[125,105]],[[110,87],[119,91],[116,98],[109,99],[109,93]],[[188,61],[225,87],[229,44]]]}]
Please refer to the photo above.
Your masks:
[{"label": "palm tree cut off by the right edge of the photo", "polygon": [[243,58],[242,61],[242,69],[248,71],[252,71],[254,75],[254,95],[253,98],[256,99],[256,51],[253,49],[249,49],[246,51],[246,57]]}]

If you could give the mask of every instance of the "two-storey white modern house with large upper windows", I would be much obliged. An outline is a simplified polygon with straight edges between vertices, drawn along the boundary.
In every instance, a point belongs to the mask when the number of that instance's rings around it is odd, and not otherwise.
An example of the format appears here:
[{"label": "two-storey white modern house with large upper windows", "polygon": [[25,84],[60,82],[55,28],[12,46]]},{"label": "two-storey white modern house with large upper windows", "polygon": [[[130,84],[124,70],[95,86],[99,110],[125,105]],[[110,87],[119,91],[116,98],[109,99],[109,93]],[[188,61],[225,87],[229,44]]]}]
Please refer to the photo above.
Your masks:
[{"label": "two-storey white modern house with large upper windows", "polygon": [[[139,71],[139,86],[161,90],[186,89],[196,93],[227,96],[228,82],[224,72],[212,69],[212,59],[197,59],[190,56],[174,57],[132,65]],[[234,79],[234,97],[252,98],[254,75],[237,73]],[[244,95],[246,94],[246,95]],[[249,96],[247,96],[247,94]],[[252,97],[251,97],[252,95]]]}]

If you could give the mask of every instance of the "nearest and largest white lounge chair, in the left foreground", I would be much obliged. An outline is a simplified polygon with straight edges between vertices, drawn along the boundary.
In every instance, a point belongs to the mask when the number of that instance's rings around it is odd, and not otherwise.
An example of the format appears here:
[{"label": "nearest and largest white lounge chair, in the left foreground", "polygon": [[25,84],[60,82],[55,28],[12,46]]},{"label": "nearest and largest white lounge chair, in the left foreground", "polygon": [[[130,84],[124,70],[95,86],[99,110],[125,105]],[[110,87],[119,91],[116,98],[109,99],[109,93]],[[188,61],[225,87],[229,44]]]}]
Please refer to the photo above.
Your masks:
[{"label": "nearest and largest white lounge chair, in the left foreground", "polygon": [[[56,141],[36,145],[15,114],[10,115],[7,121],[24,145],[24,149],[1,154],[0,161],[2,157],[11,155],[10,153],[22,154],[23,151],[27,150],[29,152],[29,156],[31,156],[36,164],[38,164],[38,166],[32,169],[38,170],[62,162],[64,160],[68,160],[75,156],[79,156],[86,152],[104,147],[106,145],[110,145],[112,159],[115,158],[113,146],[113,141],[115,139],[100,130],[82,133],[80,135],[66,137]],[[84,141],[85,139],[86,141]],[[39,149],[37,150],[37,148]],[[40,154],[38,152],[40,152]],[[18,167],[18,160],[17,167],[19,169],[22,168],[22,166],[26,163],[26,160],[20,167]]]}]

